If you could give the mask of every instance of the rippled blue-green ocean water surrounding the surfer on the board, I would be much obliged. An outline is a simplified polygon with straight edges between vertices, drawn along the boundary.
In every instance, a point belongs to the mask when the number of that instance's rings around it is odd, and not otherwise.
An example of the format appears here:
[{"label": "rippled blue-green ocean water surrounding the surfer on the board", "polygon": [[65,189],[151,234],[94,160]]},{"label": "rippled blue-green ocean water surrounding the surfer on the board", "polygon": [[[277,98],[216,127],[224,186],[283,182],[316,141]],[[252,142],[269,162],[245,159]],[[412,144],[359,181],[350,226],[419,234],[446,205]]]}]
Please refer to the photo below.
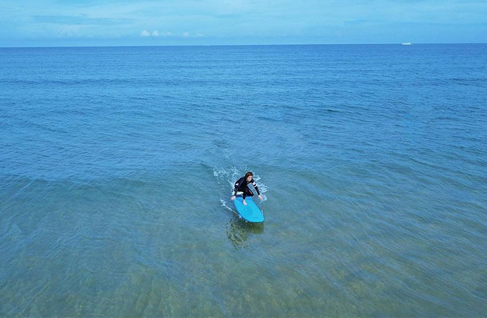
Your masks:
[{"label": "rippled blue-green ocean water surrounding the surfer on the board", "polygon": [[0,48],[0,316],[485,316],[486,96],[486,44]]}]

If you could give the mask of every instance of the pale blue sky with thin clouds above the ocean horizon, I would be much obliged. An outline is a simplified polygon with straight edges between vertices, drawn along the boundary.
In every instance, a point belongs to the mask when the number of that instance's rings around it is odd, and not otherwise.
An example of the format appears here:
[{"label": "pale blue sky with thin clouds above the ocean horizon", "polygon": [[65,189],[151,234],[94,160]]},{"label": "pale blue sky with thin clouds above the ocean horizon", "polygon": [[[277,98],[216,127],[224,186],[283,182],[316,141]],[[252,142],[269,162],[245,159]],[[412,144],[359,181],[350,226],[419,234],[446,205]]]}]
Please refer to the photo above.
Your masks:
[{"label": "pale blue sky with thin clouds above the ocean horizon", "polygon": [[486,43],[487,0],[1,0],[0,47]]}]

